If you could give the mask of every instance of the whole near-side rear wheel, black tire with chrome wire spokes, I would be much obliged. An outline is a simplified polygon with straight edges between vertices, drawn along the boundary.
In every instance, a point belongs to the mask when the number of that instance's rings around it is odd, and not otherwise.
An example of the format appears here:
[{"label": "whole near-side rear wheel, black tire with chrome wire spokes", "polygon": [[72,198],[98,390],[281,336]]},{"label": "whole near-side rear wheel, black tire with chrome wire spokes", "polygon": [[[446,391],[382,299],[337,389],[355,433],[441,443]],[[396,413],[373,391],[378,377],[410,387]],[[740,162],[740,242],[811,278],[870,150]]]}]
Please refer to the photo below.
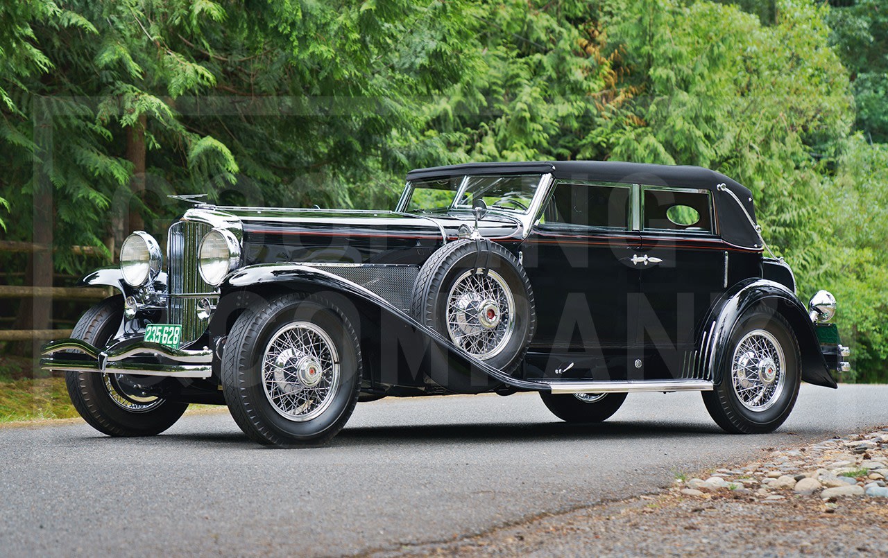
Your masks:
[{"label": "whole near-side rear wheel, black tire with chrome wire spokes", "polygon": [[798,342],[786,318],[764,305],[745,312],[722,363],[715,389],[702,392],[718,426],[733,434],[780,427],[796,404],[802,376]]}]

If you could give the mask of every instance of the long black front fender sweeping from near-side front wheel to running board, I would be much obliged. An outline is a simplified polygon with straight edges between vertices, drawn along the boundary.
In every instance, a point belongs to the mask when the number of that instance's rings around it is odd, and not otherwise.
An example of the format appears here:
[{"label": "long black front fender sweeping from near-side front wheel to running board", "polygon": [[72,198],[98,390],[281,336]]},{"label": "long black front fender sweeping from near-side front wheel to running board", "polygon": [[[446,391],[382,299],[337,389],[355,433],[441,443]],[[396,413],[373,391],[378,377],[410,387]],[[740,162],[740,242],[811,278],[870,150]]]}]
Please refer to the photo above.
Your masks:
[{"label": "long black front fender sweeping from near-side front wheel to running board", "polygon": [[[381,359],[383,365],[377,365],[375,380],[384,384],[402,384],[396,379],[404,377],[403,368],[407,366],[407,373],[418,380],[417,385],[427,378],[456,393],[481,393],[502,384],[516,389],[542,389],[538,383],[513,378],[457,349],[446,337],[367,288],[297,263],[264,263],[234,271],[221,286],[222,298],[217,309],[218,319],[228,322],[210,327],[227,328],[231,320],[226,316],[251,303],[261,303],[262,294],[269,290],[275,294],[295,291],[322,295],[337,303],[346,315],[357,315],[365,324],[359,334],[361,350],[365,360],[366,353]],[[213,319],[216,321],[216,316]]]}]

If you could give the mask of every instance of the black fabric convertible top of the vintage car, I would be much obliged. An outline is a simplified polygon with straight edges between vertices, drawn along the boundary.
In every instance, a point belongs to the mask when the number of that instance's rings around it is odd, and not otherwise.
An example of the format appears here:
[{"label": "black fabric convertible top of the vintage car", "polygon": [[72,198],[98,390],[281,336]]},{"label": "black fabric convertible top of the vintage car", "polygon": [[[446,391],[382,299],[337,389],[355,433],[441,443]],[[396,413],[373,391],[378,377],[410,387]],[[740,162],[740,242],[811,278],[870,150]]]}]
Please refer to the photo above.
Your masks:
[{"label": "black fabric convertible top of the vintage car", "polygon": [[732,178],[702,167],[653,165],[622,161],[531,161],[531,162],[473,162],[447,167],[414,169],[408,180],[459,175],[547,174],[561,180],[600,180],[626,184],[661,185],[710,190],[716,201],[718,227],[724,240],[745,248],[762,248],[758,234],[737,202],[730,195],[718,191],[724,184],[739,198],[755,222],[752,193]]}]

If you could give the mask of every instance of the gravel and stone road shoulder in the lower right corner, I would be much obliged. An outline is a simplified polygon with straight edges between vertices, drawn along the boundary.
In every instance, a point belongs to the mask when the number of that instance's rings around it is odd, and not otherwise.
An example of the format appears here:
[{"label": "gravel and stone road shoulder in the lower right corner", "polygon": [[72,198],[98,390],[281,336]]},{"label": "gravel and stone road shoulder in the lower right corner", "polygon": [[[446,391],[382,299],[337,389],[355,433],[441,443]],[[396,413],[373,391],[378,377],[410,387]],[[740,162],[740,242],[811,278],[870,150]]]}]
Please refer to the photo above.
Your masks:
[{"label": "gravel and stone road shoulder in the lower right corner", "polygon": [[888,555],[888,425],[765,452],[661,491],[357,555]]}]

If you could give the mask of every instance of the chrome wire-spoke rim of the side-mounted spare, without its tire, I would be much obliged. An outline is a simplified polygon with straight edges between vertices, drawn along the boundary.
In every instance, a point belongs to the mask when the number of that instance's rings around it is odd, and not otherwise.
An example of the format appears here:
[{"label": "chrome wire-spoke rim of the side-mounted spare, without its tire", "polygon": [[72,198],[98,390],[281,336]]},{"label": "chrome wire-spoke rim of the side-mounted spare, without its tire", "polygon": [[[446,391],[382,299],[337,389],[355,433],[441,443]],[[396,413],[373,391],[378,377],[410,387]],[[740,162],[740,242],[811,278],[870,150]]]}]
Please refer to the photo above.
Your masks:
[{"label": "chrome wire-spoke rim of the side-mounted spare, without its tire", "polygon": [[511,341],[514,316],[514,297],[496,271],[464,271],[450,288],[446,316],[450,340],[477,358],[496,357]]}]

